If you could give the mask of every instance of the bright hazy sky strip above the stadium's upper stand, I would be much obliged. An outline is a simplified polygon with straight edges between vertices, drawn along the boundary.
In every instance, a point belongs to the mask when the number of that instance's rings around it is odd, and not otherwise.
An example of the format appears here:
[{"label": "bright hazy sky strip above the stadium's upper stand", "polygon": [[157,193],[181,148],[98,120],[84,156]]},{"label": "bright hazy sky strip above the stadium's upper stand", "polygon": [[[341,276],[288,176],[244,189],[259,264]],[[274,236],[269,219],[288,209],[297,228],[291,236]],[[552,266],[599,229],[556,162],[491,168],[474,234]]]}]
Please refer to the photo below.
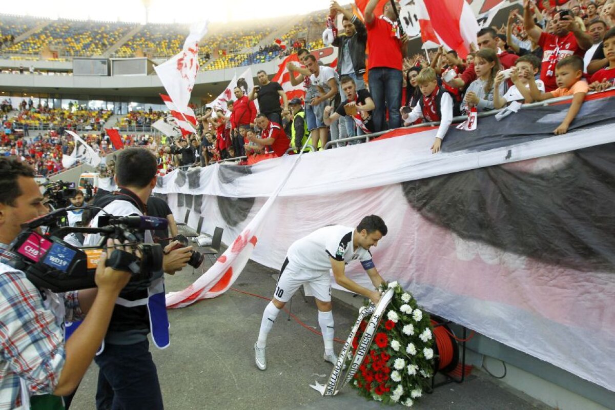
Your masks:
[{"label": "bright hazy sky strip above the stadium's upper stand", "polygon": [[[341,0],[339,4],[349,4]],[[293,14],[306,14],[329,7],[330,0],[149,0],[149,22],[192,23],[259,20]],[[73,0],[3,1],[3,14],[30,15],[47,18],[102,20],[106,22],[145,23],[142,0],[103,0],[74,2]]]}]

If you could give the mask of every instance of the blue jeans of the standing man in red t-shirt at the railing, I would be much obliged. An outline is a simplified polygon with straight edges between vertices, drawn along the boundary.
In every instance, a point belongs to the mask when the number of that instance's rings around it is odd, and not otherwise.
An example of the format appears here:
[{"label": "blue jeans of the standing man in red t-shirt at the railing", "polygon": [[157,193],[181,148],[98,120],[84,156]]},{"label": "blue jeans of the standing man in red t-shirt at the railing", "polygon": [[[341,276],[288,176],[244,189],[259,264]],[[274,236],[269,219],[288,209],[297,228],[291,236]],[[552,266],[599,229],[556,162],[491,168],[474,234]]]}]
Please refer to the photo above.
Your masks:
[{"label": "blue jeans of the standing man in red t-shirt at the railing", "polygon": [[[399,128],[402,125],[403,74],[399,69],[375,67],[368,74],[371,99],[374,100],[374,126],[376,132]],[[389,124],[386,122],[386,110],[389,110]]]}]

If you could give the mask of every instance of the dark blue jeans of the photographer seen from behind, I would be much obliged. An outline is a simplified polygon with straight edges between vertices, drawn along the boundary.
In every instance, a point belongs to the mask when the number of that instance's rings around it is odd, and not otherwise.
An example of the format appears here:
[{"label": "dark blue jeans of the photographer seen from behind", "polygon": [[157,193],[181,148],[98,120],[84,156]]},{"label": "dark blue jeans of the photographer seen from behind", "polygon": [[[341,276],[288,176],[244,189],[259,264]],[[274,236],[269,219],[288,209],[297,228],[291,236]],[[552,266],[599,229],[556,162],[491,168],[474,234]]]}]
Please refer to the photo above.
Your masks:
[{"label": "dark blue jeans of the photographer seen from behind", "polygon": [[97,410],[162,410],[162,393],[149,342],[105,344],[94,358],[98,370]]}]

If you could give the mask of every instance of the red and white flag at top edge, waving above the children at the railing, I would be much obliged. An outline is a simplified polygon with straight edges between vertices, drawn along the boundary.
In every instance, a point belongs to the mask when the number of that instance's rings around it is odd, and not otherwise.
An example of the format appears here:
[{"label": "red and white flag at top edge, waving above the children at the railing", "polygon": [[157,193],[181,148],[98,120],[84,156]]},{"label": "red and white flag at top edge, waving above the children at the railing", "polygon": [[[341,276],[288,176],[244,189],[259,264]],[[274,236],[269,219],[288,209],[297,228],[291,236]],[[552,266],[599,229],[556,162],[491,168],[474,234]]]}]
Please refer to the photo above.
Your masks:
[{"label": "red and white flag at top edge, waving above the children at the railing", "polygon": [[416,0],[416,14],[423,42],[433,41],[466,58],[470,44],[476,44],[478,23],[465,0]]}]

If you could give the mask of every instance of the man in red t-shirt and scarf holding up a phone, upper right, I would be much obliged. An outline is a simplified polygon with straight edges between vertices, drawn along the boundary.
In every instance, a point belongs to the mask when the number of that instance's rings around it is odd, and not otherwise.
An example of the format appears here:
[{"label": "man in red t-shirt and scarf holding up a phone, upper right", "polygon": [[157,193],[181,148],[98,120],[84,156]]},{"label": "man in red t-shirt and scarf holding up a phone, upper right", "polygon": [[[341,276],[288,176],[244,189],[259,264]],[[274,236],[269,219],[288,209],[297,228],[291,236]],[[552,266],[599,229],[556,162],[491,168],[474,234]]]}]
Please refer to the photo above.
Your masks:
[{"label": "man in red t-shirt and scarf holding up a phone, upper right", "polygon": [[577,55],[581,58],[585,50],[592,47],[592,37],[581,30],[570,10],[560,10],[551,20],[555,34],[546,33],[534,24],[534,15],[529,0],[523,0],[523,26],[528,36],[542,47],[540,77],[546,92],[557,89],[555,65],[562,58]]}]

